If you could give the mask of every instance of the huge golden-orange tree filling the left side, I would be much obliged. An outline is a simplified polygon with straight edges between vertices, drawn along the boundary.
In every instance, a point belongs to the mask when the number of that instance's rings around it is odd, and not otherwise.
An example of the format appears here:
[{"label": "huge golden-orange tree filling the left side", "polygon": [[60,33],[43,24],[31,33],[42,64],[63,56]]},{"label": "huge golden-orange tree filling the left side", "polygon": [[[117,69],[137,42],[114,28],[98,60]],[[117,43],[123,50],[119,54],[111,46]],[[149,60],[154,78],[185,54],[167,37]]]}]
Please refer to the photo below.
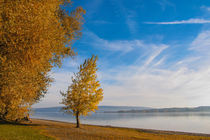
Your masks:
[{"label": "huge golden-orange tree filling the left side", "polygon": [[85,11],[68,5],[70,0],[0,0],[1,120],[27,116],[52,81],[49,71],[74,55]]}]

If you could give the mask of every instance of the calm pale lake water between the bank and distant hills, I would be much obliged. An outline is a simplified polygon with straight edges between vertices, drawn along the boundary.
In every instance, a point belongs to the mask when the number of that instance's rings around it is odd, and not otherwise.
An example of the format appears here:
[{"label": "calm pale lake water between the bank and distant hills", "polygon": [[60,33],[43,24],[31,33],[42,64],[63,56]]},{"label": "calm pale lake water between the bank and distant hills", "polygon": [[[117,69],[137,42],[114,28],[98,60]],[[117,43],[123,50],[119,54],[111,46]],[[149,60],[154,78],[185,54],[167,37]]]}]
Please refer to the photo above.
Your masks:
[{"label": "calm pale lake water between the bank and distant hills", "polygon": [[[64,114],[60,108],[35,109],[32,118],[75,122],[71,114]],[[90,116],[81,117],[81,123],[210,134],[210,112],[103,113],[98,111]]]}]

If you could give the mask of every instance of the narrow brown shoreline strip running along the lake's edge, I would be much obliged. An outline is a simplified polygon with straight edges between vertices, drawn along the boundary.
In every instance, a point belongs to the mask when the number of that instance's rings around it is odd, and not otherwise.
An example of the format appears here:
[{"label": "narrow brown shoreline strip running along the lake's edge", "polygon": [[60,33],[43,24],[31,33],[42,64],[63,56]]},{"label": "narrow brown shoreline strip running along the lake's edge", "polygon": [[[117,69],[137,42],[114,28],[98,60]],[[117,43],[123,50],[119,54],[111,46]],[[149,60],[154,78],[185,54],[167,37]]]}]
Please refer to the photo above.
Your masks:
[{"label": "narrow brown shoreline strip running along the lake's edge", "polygon": [[[40,119],[40,118],[32,118],[32,123],[36,121],[39,122],[51,122],[51,123],[59,123],[66,125],[75,125],[75,123],[58,121],[58,120],[48,120],[48,119]],[[160,134],[160,135],[187,135],[187,136],[202,136],[202,137],[210,137],[210,134],[205,133],[191,133],[191,132],[181,132],[181,131],[168,131],[168,130],[155,130],[155,129],[144,129],[144,128],[130,128],[130,127],[118,127],[118,126],[110,126],[110,125],[91,125],[91,124],[81,124],[82,126],[96,126],[96,127],[105,127],[105,128],[119,128],[119,129],[127,129],[127,130],[136,130],[144,133],[151,134]]]}]

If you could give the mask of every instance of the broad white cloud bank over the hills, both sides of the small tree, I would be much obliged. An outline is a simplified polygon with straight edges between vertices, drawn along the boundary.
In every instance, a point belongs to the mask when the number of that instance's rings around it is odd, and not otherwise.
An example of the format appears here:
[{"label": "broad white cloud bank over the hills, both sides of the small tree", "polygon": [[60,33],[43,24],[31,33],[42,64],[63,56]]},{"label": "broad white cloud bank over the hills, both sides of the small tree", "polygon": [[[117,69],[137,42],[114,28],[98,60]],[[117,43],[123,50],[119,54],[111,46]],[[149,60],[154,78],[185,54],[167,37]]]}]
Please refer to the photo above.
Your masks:
[{"label": "broad white cloud bank over the hills, both sides of the small tree", "polygon": [[[99,78],[104,88],[101,104],[150,107],[210,105],[209,40],[210,32],[201,32],[189,44],[189,51],[194,53],[167,67],[163,64],[167,62],[166,55],[162,53],[170,49],[170,45],[146,44],[140,40],[107,41],[110,50],[119,51],[122,49],[116,49],[119,44],[125,45],[125,48],[128,45],[134,50],[136,48],[133,46],[146,48],[143,50],[147,57],[142,63],[115,66],[106,71],[100,69]],[[167,54],[168,57],[170,54]],[[160,65],[163,67],[158,67]],[[56,81],[49,89],[50,94],[36,107],[59,105],[59,91],[65,90],[71,83],[71,75],[71,72],[66,71],[55,73]]]}]

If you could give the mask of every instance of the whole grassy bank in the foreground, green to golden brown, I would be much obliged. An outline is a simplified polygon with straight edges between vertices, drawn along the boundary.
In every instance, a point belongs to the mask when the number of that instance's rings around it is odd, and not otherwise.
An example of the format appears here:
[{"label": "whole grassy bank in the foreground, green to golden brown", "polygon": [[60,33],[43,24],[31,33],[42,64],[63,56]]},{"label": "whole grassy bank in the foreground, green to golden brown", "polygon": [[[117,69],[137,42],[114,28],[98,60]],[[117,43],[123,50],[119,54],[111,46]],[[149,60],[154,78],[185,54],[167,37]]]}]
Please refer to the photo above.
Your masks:
[{"label": "whole grassy bank in the foreground, green to golden brown", "polygon": [[37,120],[29,125],[0,124],[0,140],[210,140],[210,135],[103,127]]}]

